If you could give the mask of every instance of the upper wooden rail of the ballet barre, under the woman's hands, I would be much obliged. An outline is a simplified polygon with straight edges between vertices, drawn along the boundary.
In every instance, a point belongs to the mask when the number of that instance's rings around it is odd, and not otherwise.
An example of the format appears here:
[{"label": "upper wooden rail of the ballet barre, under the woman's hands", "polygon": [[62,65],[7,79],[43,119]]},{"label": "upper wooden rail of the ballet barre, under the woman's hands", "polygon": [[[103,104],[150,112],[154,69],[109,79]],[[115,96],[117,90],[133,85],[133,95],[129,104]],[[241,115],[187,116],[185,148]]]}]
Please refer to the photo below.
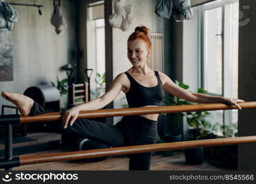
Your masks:
[{"label": "upper wooden rail of the ballet barre, under the woman's hands", "polygon": [[[256,108],[256,101],[239,103],[242,109]],[[160,107],[136,107],[126,109],[101,109],[80,111],[78,119],[80,118],[99,118],[99,117],[116,117],[116,116],[130,116],[130,115],[144,115],[152,113],[179,113],[179,112],[195,112],[204,110],[229,110],[237,109],[235,105],[227,105],[222,103],[216,104],[195,104],[195,105],[170,105]],[[35,116],[22,115],[1,115],[0,124],[6,122],[16,123],[32,123],[37,121],[56,121],[61,120],[63,112],[44,113]],[[17,120],[18,118],[18,120]]]}]

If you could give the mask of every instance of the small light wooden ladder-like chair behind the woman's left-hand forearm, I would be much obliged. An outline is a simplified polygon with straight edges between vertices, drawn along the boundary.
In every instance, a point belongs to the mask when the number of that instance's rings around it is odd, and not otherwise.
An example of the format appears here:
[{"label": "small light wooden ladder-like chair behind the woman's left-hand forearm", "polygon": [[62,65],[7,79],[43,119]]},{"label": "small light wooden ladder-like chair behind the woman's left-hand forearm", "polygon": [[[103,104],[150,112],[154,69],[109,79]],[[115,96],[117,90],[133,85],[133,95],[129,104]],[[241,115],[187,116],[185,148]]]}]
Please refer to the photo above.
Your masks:
[{"label": "small light wooden ladder-like chair behind the woman's left-hand forearm", "polygon": [[72,105],[78,105],[88,102],[88,83],[72,84]]}]

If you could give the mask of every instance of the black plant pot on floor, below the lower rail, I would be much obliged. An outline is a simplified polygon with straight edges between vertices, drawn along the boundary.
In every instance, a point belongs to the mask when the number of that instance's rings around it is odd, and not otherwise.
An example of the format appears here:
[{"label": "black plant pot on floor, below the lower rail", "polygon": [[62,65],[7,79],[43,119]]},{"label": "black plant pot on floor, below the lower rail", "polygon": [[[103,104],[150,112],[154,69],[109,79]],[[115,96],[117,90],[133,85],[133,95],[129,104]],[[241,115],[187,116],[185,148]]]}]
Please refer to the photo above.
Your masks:
[{"label": "black plant pot on floor, below the lower rail", "polygon": [[190,148],[184,150],[186,164],[202,164],[204,160],[204,148]]}]

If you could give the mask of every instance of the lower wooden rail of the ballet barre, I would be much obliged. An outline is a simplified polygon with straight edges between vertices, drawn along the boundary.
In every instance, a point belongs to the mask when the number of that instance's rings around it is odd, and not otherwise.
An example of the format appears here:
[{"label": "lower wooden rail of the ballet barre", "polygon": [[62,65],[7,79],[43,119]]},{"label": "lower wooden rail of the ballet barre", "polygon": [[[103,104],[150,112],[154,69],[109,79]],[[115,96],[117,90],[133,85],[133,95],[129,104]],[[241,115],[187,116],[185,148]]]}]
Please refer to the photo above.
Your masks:
[{"label": "lower wooden rail of the ballet barre", "polygon": [[184,142],[136,145],[129,147],[104,148],[87,151],[69,151],[64,153],[50,153],[39,156],[20,156],[20,166],[28,164],[48,163],[55,161],[68,161],[74,159],[97,158],[104,156],[127,155],[151,151],[182,150],[196,147],[215,147],[220,145],[255,143],[256,136],[231,137],[207,140],[191,140]]}]

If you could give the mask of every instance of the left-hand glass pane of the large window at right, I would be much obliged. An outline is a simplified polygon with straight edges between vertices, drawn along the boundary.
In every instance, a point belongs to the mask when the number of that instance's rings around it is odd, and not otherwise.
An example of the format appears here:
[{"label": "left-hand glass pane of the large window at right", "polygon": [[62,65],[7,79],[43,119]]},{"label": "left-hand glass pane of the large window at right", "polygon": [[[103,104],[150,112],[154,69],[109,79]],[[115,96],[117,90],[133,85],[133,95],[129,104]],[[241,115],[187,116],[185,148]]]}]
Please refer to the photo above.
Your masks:
[{"label": "left-hand glass pane of the large window at right", "polygon": [[203,86],[222,95],[222,7],[204,11]]}]

